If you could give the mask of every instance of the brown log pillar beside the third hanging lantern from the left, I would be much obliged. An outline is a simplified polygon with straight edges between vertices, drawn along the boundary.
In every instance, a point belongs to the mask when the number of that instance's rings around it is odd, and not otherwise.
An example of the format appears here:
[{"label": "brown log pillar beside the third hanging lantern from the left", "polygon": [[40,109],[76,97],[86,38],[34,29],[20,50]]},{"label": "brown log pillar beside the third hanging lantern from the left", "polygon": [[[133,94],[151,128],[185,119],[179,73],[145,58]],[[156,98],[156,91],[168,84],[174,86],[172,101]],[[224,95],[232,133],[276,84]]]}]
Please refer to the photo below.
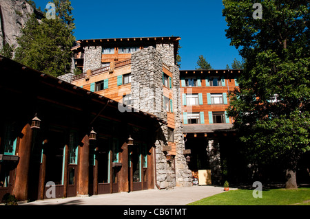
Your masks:
[{"label": "brown log pillar beside the third hanging lantern from the left", "polygon": [[121,147],[121,163],[122,168],[118,172],[118,192],[129,192],[129,181],[128,181],[128,146],[127,143],[123,143]]}]

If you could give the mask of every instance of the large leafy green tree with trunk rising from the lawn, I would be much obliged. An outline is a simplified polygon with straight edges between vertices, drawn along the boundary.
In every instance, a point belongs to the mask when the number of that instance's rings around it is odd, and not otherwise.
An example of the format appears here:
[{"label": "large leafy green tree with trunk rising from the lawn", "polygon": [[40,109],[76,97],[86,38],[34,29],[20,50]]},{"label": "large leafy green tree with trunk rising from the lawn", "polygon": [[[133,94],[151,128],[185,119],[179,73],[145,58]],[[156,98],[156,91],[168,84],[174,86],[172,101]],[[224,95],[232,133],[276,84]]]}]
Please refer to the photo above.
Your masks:
[{"label": "large leafy green tree with trunk rising from the lawn", "polygon": [[227,38],[245,60],[228,115],[251,161],[276,160],[286,187],[297,188],[296,166],[310,150],[309,2],[223,0]]}]

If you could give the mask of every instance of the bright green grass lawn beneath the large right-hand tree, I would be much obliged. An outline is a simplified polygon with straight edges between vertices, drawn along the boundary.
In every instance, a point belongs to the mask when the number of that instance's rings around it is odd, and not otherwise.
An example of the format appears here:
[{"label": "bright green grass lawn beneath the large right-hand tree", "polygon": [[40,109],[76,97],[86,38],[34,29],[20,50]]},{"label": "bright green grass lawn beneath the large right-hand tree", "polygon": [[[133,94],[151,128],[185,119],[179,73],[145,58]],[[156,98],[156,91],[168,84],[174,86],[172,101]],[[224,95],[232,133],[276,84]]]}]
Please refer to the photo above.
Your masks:
[{"label": "bright green grass lawn beneath the large right-hand tree", "polygon": [[248,189],[230,190],[188,205],[310,205],[310,188],[263,190],[262,198],[254,198],[252,193]]}]

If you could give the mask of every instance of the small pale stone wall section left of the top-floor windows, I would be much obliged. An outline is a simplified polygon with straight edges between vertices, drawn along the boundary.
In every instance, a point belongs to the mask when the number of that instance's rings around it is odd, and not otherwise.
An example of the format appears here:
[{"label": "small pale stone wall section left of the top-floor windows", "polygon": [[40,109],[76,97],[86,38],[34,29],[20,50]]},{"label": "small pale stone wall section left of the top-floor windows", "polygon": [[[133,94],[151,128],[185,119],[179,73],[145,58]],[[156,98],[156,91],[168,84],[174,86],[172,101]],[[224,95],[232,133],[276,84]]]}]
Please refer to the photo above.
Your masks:
[{"label": "small pale stone wall section left of the top-floor windows", "polygon": [[101,46],[90,46],[84,47],[85,58],[84,58],[84,72],[88,69],[94,70],[101,68]]}]

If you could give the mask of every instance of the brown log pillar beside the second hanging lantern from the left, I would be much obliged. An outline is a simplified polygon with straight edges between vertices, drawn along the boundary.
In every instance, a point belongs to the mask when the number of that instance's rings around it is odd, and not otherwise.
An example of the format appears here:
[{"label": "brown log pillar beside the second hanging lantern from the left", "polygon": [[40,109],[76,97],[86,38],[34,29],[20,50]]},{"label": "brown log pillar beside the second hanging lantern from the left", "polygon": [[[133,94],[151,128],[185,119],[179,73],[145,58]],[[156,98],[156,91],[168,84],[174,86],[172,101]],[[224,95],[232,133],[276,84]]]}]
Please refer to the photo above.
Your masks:
[{"label": "brown log pillar beside the second hanging lantern from the left", "polygon": [[89,165],[90,165],[90,141],[88,135],[82,140],[83,146],[79,146],[79,187],[78,196],[88,196]]}]

